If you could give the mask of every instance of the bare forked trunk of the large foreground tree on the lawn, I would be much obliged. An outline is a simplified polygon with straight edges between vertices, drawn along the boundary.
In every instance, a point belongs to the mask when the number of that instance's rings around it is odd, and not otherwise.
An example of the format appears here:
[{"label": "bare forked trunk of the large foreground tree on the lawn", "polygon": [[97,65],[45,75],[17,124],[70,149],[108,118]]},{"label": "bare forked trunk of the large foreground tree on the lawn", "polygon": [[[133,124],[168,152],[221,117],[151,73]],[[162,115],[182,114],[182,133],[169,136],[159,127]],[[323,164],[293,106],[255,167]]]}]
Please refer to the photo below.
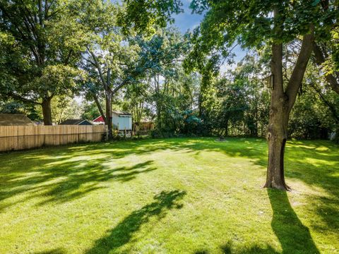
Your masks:
[{"label": "bare forked trunk of the large foreground tree on the lawn", "polygon": [[295,104],[297,92],[312,52],[313,28],[304,35],[297,62],[292,71],[286,90],[283,85],[283,44],[273,44],[271,71],[273,73],[273,90],[270,101],[270,119],[268,122],[268,166],[266,188],[289,190],[285,183],[284,154],[287,140],[287,123],[290,111]]}]

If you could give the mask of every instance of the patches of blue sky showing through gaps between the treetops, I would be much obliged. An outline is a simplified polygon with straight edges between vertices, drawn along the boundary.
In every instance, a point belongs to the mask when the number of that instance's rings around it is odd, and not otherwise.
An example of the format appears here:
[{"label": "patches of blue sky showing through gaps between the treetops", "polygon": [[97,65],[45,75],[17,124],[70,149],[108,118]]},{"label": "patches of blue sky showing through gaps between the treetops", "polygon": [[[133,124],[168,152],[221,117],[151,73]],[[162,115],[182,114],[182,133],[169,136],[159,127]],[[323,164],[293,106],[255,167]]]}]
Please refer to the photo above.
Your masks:
[{"label": "patches of blue sky showing through gaps between the treetops", "polygon": [[[179,28],[182,33],[187,32],[187,30],[193,30],[196,26],[199,25],[201,20],[203,20],[203,15],[192,14],[191,9],[189,8],[189,4],[191,0],[182,0],[184,13],[180,13],[179,15],[173,15],[174,18],[174,26]],[[246,50],[242,49],[241,47],[235,47],[233,50],[236,57],[234,60],[236,63],[240,61],[245,55]]]}]

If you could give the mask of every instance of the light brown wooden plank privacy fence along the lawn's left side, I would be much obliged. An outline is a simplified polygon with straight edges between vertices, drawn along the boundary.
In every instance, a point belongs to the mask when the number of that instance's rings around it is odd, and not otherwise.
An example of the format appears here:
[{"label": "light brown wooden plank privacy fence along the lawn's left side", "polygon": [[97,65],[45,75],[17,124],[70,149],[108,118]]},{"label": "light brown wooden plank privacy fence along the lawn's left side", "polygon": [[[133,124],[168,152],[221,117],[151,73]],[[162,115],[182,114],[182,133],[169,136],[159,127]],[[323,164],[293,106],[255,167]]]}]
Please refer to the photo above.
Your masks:
[{"label": "light brown wooden plank privacy fence along the lawn's left side", "polygon": [[105,126],[0,126],[0,152],[44,145],[97,142]]}]

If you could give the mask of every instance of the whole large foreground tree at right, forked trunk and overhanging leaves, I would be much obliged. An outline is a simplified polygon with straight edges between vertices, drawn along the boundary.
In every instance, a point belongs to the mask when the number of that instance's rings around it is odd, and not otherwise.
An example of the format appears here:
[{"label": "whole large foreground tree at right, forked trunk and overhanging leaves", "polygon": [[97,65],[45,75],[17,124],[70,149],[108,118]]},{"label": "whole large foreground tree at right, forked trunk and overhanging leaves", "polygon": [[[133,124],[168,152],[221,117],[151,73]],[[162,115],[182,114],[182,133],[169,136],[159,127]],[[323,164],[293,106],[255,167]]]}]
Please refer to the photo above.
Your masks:
[{"label": "whole large foreground tree at right, forked trunk and overhanging leaves", "polygon": [[[287,123],[311,57],[316,40],[329,33],[336,22],[336,6],[320,1],[193,1],[195,11],[206,10],[196,29],[189,63],[201,68],[200,59],[215,66],[230,54],[236,42],[243,47],[271,47],[270,69],[273,84],[268,123],[268,170],[266,187],[287,189],[284,177],[284,151]],[[333,5],[332,5],[333,4]],[[285,44],[301,40],[290,75],[283,73]]]}]

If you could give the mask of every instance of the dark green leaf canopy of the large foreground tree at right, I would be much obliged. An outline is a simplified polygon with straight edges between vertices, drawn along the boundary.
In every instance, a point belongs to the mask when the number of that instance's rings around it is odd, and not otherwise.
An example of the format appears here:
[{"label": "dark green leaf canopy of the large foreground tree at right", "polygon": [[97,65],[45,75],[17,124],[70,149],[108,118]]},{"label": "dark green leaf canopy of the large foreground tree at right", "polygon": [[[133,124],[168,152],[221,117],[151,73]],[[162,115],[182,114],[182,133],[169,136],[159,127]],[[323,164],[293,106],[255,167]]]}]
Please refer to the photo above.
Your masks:
[{"label": "dark green leaf canopy of the large foreground tree at right", "polygon": [[[338,19],[338,1],[323,8],[320,1],[208,1],[194,0],[191,8],[205,12],[205,18],[192,37],[194,49],[186,59],[186,67],[206,71],[218,68],[232,56],[235,43],[243,47],[263,47],[272,42],[290,42],[309,31],[310,23],[316,39],[329,40],[333,20]],[[282,15],[273,18],[273,9]],[[273,29],[273,24],[279,24]],[[208,69],[213,70],[215,67]]]}]

